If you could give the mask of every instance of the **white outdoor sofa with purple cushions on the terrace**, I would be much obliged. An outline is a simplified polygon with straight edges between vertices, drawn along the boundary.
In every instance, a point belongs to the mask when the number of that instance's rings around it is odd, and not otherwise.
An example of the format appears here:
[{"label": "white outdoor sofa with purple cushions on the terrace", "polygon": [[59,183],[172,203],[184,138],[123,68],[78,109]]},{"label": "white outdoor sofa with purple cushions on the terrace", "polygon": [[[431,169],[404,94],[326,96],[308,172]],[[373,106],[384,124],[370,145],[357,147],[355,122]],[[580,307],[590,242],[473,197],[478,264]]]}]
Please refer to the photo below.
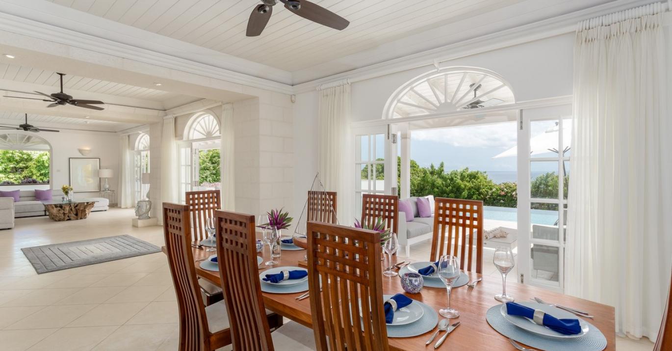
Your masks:
[{"label": "white outdoor sofa with purple cushions on the terrace", "polygon": [[399,211],[398,233],[396,237],[399,245],[403,245],[406,250],[406,257],[411,256],[411,245],[419,243],[427,239],[431,239],[434,230],[434,196],[424,196],[429,199],[429,207],[431,208],[431,217],[419,217],[418,212],[418,198],[413,196],[411,200],[411,208],[413,208],[413,221],[406,221],[406,213]]}]

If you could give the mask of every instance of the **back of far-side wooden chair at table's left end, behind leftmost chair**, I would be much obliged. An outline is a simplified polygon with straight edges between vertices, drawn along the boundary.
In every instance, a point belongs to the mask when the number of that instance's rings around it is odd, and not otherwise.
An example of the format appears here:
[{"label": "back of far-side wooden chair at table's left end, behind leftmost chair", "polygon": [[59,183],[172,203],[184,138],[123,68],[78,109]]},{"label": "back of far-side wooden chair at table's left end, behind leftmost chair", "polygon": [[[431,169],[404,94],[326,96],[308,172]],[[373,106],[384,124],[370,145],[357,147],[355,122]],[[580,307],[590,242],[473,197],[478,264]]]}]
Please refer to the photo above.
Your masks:
[{"label": "back of far-side wooden chair at table's left end, behind leftmost chair", "polygon": [[186,192],[185,199],[189,206],[189,215],[192,221],[192,240],[208,239],[206,221],[214,217],[214,211],[221,208],[219,190],[198,190]]}]

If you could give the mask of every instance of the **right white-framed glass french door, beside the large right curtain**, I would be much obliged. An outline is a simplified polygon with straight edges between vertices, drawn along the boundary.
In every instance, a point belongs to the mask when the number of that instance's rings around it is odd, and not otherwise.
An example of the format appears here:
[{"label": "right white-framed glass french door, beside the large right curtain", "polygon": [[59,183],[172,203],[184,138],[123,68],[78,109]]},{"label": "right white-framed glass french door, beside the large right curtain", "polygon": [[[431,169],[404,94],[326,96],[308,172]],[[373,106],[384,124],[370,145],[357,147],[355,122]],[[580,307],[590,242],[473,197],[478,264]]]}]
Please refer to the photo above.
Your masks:
[{"label": "right white-framed glass french door, beside the large right curtain", "polygon": [[562,292],[571,106],[519,112],[518,281]]}]

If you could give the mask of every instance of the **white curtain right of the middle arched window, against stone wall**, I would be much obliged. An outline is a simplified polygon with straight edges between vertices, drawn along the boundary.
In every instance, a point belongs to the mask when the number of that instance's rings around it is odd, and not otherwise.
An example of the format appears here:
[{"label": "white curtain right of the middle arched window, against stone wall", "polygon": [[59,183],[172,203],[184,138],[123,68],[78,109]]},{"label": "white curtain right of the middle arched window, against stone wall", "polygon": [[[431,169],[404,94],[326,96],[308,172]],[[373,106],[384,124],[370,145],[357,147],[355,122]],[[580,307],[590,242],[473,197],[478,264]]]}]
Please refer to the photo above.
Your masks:
[{"label": "white curtain right of the middle arched window, against stone wall", "polygon": [[222,208],[224,210],[235,210],[236,189],[235,189],[235,167],[233,157],[234,132],[233,132],[233,104],[222,105],[222,141],[220,147],[221,153],[221,180],[222,180]]}]

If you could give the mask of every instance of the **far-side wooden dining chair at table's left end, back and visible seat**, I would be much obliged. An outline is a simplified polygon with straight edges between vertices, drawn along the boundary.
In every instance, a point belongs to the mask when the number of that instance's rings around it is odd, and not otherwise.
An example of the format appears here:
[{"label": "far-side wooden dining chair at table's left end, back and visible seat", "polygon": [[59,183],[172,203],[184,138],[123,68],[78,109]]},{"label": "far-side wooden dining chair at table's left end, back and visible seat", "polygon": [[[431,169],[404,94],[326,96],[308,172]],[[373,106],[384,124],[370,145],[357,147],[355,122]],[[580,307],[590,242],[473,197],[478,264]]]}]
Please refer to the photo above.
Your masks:
[{"label": "far-side wooden dining chair at table's left end, back and visible seat", "polygon": [[[189,218],[192,223],[190,233],[192,241],[201,241],[208,238],[206,231],[206,221],[214,217],[214,210],[218,210],[221,205],[219,190],[197,190],[185,193],[185,200],[189,206]],[[201,292],[206,299],[206,305],[222,301],[222,289],[208,280],[199,279],[198,283]]]}]

